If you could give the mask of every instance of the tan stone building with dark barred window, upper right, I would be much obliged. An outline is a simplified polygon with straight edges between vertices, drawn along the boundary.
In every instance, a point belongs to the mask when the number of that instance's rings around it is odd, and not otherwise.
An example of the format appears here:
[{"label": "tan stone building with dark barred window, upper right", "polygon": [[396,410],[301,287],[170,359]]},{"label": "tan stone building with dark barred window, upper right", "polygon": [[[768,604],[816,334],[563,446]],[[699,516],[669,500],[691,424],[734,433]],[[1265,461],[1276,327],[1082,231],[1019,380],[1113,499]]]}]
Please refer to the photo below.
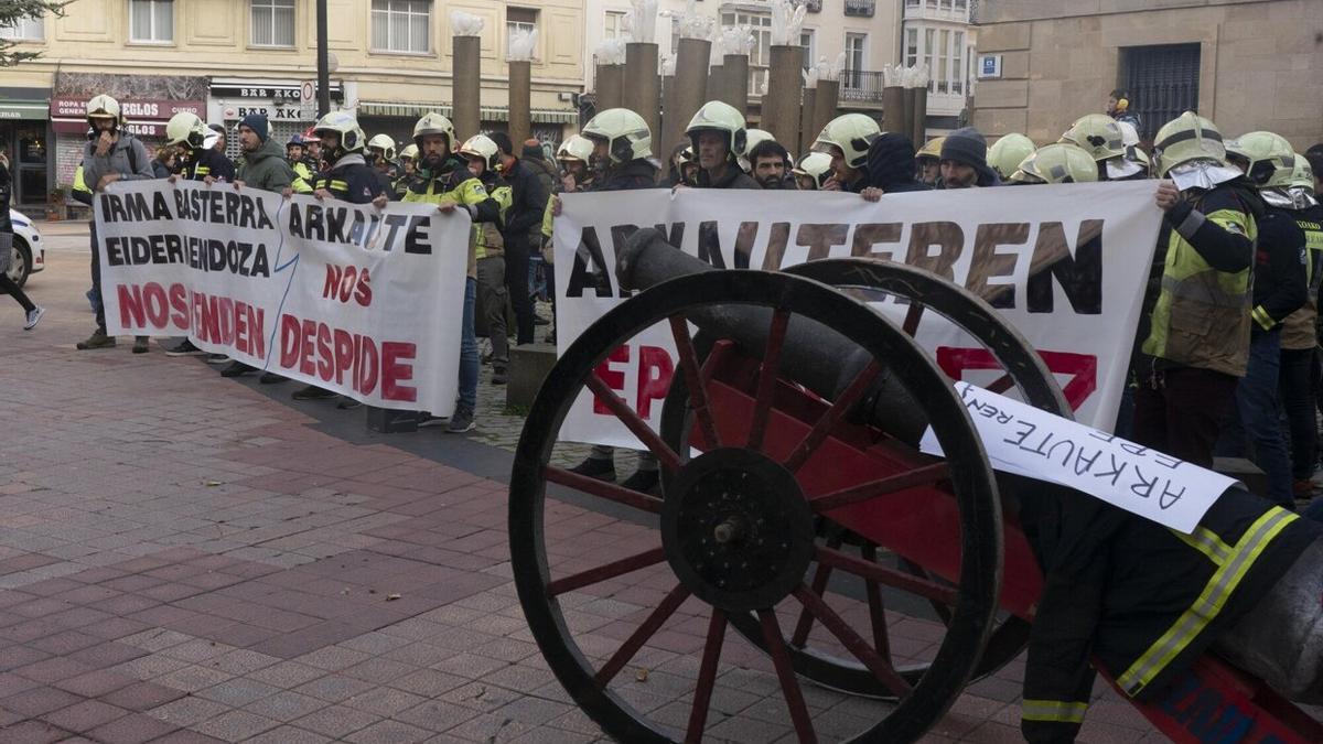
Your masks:
[{"label": "tan stone building with dark barred window, upper right", "polygon": [[982,0],[975,20],[974,123],[990,136],[1054,142],[1119,87],[1146,140],[1184,110],[1228,136],[1323,140],[1319,0]]}]

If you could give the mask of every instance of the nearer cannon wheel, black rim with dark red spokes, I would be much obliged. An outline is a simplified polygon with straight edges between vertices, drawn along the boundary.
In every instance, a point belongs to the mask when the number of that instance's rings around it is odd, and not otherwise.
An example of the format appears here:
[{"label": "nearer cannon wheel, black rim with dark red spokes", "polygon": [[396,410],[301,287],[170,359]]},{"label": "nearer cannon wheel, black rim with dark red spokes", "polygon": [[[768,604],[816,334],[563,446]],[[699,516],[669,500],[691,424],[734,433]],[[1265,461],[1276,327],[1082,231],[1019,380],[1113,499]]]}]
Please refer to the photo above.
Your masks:
[{"label": "nearer cannon wheel, black rim with dark red spokes", "polygon": [[[668,323],[675,335],[684,373],[696,376],[697,357],[685,312],[712,304],[771,310],[769,338],[773,340],[767,344],[763,361],[763,373],[769,380],[777,377],[783,331],[792,315],[800,315],[844,328],[847,338],[872,355],[875,363],[860,373],[852,389],[864,391],[885,367],[906,389],[923,392],[923,413],[938,441],[945,451],[958,453],[934,465],[930,477],[951,483],[959,508],[959,585],[946,586],[886,571],[816,544],[814,506],[798,488],[790,471],[761,451],[761,441],[755,436],[750,437],[754,441],[749,446],[728,445],[681,462],[660,436],[598,377],[595,369],[610,352],[640,331],[662,323]],[[767,388],[758,401],[763,412],[770,409],[766,397],[770,396],[770,385]],[[591,391],[669,471],[664,498],[642,495],[550,465],[561,425],[574,400],[585,391]],[[843,412],[852,404],[853,400],[843,396],[833,405]],[[710,414],[704,424],[714,426]],[[758,429],[754,421],[751,430]],[[624,557],[587,561],[586,568],[585,563],[574,564],[573,573],[562,569],[553,576],[545,522],[549,483],[577,491],[557,491],[553,494],[556,500],[590,496],[605,510],[632,511],[644,523],[659,527],[660,545],[638,545],[643,549]],[[877,492],[860,494],[859,498],[876,498],[889,490],[880,487]],[[724,511],[717,514],[712,507],[720,499],[733,503],[718,504]],[[749,519],[759,520],[758,527],[749,528]],[[542,383],[520,437],[511,477],[511,560],[529,629],[552,671],[579,707],[609,735],[631,743],[703,737],[712,708],[725,628],[732,616],[750,612],[758,616],[763,630],[790,724],[800,741],[816,740],[814,718],[790,666],[774,610],[783,601],[798,601],[807,608],[898,699],[881,720],[849,740],[917,739],[959,696],[982,655],[1000,593],[1002,535],[1000,500],[987,454],[950,380],[912,338],[867,304],[827,285],[789,274],[738,270],[681,277],[642,293],[603,315],[566,349]],[[773,544],[762,547],[763,537]],[[730,560],[704,563],[703,551],[717,544]],[[889,659],[804,585],[808,565],[824,560],[837,563],[843,571],[863,572],[861,576],[904,586],[917,596],[942,598],[953,608],[941,647],[914,683],[901,678]],[[618,647],[597,646],[586,651],[566,621],[562,597],[573,592],[591,592],[594,585],[651,567],[671,569],[667,582],[672,588],[665,598]],[[691,598],[699,600],[701,604],[697,606],[708,612],[701,662],[692,680],[692,696],[685,694],[687,723],[664,723],[640,712],[622,695],[619,673]]]}]

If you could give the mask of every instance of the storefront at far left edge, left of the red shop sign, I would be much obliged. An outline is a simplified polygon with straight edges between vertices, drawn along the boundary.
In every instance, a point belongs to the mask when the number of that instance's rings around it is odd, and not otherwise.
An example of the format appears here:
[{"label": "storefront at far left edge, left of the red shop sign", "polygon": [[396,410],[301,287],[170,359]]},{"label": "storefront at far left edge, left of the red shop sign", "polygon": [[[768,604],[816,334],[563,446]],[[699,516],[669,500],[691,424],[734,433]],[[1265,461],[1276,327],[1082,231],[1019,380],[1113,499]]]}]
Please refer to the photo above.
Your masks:
[{"label": "storefront at far left edge, left of the red shop sign", "polygon": [[44,207],[54,188],[49,101],[49,87],[0,87],[0,150],[9,158],[16,209]]}]

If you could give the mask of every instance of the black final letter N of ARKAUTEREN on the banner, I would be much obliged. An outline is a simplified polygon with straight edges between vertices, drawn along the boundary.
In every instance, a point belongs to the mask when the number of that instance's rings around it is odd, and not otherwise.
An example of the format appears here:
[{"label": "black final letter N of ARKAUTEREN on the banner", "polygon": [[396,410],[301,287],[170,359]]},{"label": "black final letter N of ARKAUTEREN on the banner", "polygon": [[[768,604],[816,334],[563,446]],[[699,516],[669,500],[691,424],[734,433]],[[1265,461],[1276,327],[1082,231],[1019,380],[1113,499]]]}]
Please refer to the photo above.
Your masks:
[{"label": "black final letter N of ARKAUTEREN on the banner", "polygon": [[1052,312],[1052,279],[1056,278],[1077,315],[1102,312],[1102,220],[1080,224],[1072,256],[1061,222],[1039,226],[1029,281],[1024,287],[1029,312]]}]

